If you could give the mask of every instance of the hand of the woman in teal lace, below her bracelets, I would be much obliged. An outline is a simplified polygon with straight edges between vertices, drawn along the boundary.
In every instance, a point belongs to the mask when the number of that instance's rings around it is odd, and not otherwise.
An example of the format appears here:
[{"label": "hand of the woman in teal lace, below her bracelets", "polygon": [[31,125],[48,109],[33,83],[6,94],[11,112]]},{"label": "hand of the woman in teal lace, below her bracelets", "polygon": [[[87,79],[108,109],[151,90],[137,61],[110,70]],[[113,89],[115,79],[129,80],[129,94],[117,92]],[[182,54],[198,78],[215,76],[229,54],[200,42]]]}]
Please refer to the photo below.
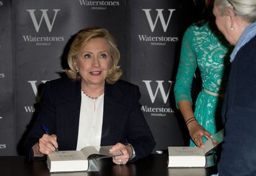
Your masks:
[{"label": "hand of the woman in teal lace, below her bracelets", "polygon": [[195,145],[197,145],[199,148],[204,147],[202,139],[203,136],[205,136],[207,139],[213,138],[213,135],[207,132],[207,130],[205,130],[205,128],[203,128],[201,125],[199,125],[196,120],[187,124],[187,128],[189,129],[190,137],[194,141]]}]

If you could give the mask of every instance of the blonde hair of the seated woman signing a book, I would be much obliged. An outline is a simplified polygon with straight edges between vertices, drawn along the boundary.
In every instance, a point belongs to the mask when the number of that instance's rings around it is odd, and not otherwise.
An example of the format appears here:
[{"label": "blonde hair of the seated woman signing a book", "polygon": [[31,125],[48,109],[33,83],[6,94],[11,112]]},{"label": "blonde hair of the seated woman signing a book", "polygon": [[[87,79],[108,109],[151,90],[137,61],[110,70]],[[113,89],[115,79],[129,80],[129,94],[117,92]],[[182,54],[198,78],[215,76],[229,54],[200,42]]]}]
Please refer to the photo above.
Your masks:
[{"label": "blonde hair of the seated woman signing a book", "polygon": [[106,77],[106,82],[109,84],[115,83],[122,75],[122,70],[120,69],[118,62],[120,60],[120,52],[117,49],[116,41],[113,36],[105,28],[91,27],[85,28],[80,31],[72,42],[69,54],[67,55],[67,64],[69,64],[70,69],[66,69],[65,72],[67,77],[74,80],[81,80],[81,76],[75,71],[74,59],[79,54],[80,50],[88,43],[92,38],[104,38],[109,45],[109,52],[111,56],[110,69]]}]

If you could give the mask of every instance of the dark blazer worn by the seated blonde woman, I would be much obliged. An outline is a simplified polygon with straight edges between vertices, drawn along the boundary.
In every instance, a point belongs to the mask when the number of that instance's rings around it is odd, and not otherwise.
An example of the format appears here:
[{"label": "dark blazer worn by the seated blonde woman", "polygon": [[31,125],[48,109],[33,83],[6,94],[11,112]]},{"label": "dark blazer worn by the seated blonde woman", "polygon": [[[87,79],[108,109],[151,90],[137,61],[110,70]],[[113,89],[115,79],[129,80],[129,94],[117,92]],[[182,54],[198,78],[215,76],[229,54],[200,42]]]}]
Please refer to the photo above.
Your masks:
[{"label": "dark blazer worn by the seated blonde woman", "polygon": [[[134,161],[150,154],[155,140],[140,110],[139,87],[123,80],[105,83],[104,96],[101,146],[130,143],[136,154]],[[32,146],[43,135],[41,125],[57,135],[59,150],[77,148],[80,104],[80,82],[59,78],[45,83],[38,117],[25,141],[30,159]]]}]

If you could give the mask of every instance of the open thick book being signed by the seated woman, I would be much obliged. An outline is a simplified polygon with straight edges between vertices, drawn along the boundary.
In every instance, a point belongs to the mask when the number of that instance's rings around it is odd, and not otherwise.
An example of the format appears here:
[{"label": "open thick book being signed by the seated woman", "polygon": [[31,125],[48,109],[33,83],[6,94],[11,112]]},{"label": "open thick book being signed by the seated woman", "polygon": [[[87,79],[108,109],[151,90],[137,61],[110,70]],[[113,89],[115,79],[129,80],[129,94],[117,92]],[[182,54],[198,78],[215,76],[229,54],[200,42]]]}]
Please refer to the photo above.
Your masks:
[{"label": "open thick book being signed by the seated woman", "polygon": [[111,153],[112,146],[87,146],[81,151],[59,151],[47,155],[49,172],[98,171],[98,160],[103,157],[119,156],[123,153]]}]

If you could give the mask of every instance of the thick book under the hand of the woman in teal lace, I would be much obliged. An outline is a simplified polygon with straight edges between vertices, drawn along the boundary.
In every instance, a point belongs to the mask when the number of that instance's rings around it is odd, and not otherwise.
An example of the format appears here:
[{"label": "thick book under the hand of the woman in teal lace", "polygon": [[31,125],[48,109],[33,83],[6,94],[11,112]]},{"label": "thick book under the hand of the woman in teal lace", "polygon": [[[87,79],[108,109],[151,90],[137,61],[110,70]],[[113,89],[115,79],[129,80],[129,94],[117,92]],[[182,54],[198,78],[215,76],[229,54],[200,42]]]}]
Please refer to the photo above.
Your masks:
[{"label": "thick book under the hand of the woman in teal lace", "polygon": [[223,141],[224,130],[213,135],[204,143],[204,148],[181,146],[168,147],[168,167],[205,167],[207,154]]}]

